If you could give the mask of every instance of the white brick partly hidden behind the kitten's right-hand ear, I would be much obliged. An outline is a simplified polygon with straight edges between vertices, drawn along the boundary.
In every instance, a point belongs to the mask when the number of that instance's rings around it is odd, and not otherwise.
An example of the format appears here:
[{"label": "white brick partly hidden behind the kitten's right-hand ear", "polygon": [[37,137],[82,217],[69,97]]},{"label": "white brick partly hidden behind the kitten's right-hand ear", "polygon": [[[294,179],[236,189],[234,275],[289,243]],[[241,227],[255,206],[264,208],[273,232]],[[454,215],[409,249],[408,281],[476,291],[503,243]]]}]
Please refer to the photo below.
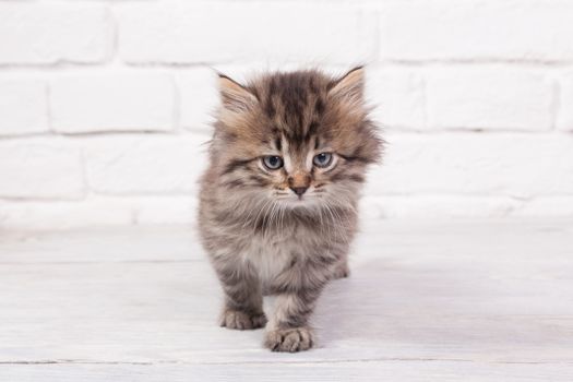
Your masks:
[{"label": "white brick partly hidden behind the kitten's right-hand ear", "polygon": [[384,127],[423,129],[423,82],[420,74],[401,69],[369,70],[367,95],[372,117]]}]

